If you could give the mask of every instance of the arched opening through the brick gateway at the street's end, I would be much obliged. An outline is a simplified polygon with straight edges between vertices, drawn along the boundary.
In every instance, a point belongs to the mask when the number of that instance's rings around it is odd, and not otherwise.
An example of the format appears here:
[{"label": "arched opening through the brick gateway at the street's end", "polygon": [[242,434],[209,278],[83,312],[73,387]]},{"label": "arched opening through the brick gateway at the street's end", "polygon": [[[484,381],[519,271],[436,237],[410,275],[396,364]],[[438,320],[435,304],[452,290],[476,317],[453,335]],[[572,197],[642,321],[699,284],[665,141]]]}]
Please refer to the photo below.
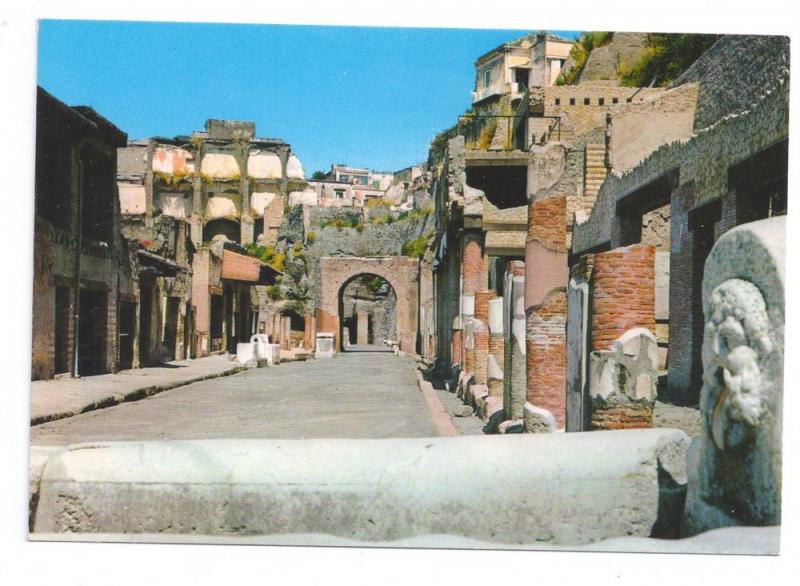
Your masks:
[{"label": "arched opening through the brick gateway at the street's end", "polygon": [[397,293],[385,278],[355,275],[338,297],[342,350],[383,350],[385,340],[397,340]]}]

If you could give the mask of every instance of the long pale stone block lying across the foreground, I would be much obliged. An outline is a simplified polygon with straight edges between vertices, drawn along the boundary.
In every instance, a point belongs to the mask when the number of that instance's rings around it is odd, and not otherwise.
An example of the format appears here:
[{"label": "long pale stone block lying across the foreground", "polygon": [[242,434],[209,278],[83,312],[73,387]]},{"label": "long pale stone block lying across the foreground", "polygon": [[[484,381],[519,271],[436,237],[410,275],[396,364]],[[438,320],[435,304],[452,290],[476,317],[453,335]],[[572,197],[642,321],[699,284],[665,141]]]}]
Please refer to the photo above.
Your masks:
[{"label": "long pale stone block lying across the foreground", "polygon": [[666,535],[680,523],[688,443],[641,429],[81,444],[45,465],[32,530],[555,545]]}]

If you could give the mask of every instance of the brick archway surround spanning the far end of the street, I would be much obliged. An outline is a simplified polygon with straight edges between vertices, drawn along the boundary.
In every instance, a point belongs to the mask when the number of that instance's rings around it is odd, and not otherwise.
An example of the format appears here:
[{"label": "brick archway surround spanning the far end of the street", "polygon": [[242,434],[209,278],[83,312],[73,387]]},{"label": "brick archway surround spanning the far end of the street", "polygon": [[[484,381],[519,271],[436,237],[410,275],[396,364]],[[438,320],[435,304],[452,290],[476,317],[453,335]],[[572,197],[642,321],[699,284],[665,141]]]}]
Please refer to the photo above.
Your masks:
[{"label": "brick archway surround spanning the far end of the street", "polygon": [[339,295],[342,287],[359,275],[386,280],[397,296],[397,339],[404,352],[416,351],[419,261],[405,256],[324,256],[319,259],[317,332],[332,332],[341,350]]}]

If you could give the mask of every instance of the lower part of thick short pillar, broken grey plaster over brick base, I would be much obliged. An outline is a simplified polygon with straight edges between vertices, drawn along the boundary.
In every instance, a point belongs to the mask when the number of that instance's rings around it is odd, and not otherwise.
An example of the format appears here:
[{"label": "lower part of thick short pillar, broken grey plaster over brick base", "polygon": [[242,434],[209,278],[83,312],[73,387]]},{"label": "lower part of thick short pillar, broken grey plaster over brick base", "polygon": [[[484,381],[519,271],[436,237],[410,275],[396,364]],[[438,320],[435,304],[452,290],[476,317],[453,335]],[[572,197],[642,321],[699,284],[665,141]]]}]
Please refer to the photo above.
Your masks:
[{"label": "lower part of thick short pillar, broken grey plaster over brick base", "polygon": [[633,328],[610,350],[589,357],[590,429],[652,427],[658,380],[658,343],[652,332]]}]

